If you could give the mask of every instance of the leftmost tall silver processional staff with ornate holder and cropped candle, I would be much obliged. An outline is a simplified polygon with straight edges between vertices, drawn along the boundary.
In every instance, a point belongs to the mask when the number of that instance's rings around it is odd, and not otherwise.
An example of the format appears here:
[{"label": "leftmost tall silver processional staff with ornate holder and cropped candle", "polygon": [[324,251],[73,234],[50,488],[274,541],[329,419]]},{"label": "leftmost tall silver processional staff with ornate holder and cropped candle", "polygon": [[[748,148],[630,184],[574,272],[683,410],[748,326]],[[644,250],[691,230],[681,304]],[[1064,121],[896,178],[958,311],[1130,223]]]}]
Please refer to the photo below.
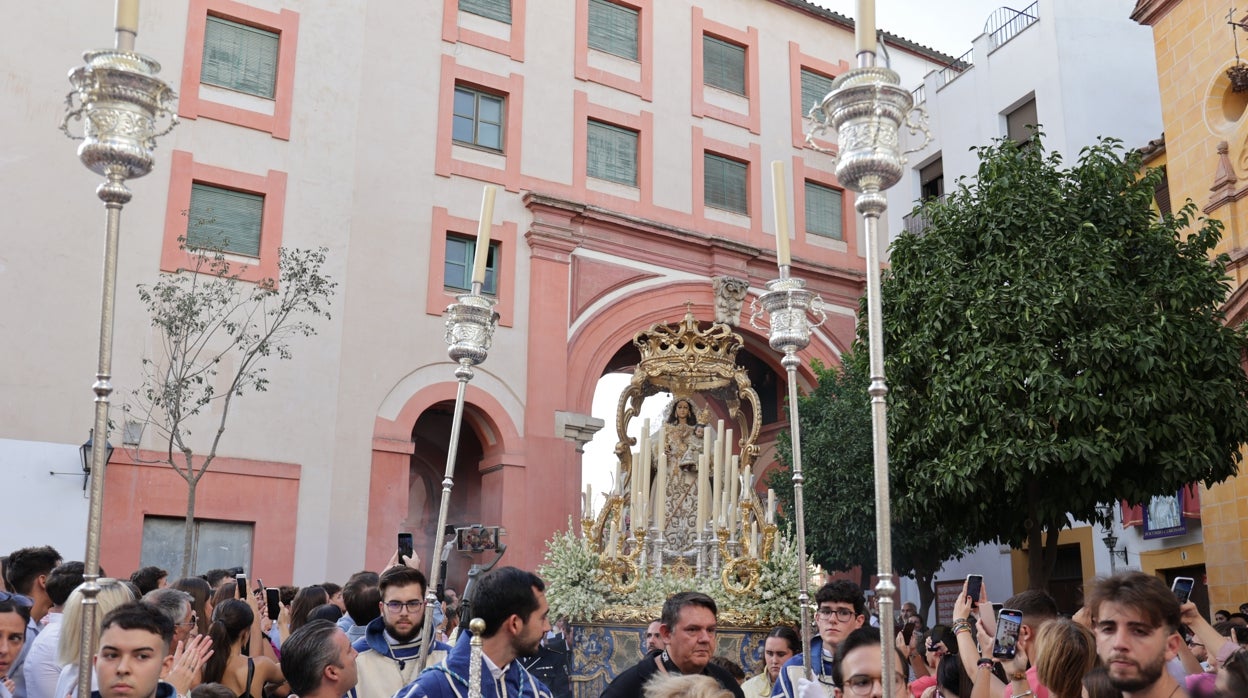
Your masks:
[{"label": "leftmost tall silver processional staff with ornate holder and cropped candle", "polygon": [[[117,245],[121,207],[130,201],[126,180],[141,177],[155,164],[156,139],[176,124],[177,95],[161,79],[160,64],[135,52],[139,34],[139,0],[119,0],[116,44],[82,54],[85,65],[70,71],[74,90],[66,97],[67,114],[61,131],[81,140],[79,160],[107,181],[95,194],[104,201],[107,222],[104,243],[104,285],[100,302],[100,360],[91,391],[95,392],[94,447],[91,448],[91,498],[86,528],[86,562],[82,574],[82,641],[79,644],[77,694],[91,694],[91,657],[95,656],[100,593],[100,523],[104,508],[104,468],[107,465],[109,396],[112,395],[112,325],[117,297]],[[82,135],[70,132],[71,120],[82,122]],[[157,132],[157,121],[167,120]]]}]

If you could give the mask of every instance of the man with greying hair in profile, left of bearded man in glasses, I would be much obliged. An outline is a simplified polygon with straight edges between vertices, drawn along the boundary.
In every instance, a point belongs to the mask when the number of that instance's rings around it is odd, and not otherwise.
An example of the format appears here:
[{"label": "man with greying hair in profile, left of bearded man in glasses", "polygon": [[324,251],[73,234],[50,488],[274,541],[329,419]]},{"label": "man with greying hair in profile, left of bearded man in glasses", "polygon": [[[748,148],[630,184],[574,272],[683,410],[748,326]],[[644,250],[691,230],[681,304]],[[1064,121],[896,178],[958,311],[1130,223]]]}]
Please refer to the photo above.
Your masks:
[{"label": "man with greying hair in profile, left of bearded man in glasses", "polygon": [[282,676],[300,698],[342,698],[356,688],[356,649],[329,621],[310,621],[282,643]]}]

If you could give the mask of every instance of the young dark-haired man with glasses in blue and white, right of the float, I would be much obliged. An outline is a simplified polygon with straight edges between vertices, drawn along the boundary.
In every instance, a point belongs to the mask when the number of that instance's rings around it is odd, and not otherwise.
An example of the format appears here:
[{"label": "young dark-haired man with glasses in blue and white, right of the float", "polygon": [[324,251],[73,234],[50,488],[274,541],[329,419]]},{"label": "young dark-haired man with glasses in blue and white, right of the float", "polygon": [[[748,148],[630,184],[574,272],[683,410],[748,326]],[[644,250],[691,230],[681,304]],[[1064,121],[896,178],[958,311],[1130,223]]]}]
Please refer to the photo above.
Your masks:
[{"label": "young dark-haired man with glasses in blue and white, right of the float", "polygon": [[[819,588],[815,603],[815,626],[819,628],[819,637],[810,642],[810,669],[815,674],[815,681],[822,684],[824,692],[831,697],[835,693],[831,676],[836,647],[866,622],[866,597],[854,582],[836,579]],[[797,654],[785,662],[771,696],[796,698],[801,696],[806,681],[802,656]]]}]

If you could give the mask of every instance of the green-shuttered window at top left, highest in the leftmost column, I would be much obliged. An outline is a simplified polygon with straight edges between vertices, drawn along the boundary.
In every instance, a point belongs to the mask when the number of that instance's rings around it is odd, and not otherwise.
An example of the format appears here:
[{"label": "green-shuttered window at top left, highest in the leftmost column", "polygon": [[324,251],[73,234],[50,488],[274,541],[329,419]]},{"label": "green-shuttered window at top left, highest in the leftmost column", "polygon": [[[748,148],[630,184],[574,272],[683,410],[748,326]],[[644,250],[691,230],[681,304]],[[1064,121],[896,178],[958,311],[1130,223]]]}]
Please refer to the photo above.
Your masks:
[{"label": "green-shuttered window at top left, highest in the leftmost column", "polygon": [[271,100],[277,92],[277,49],[276,32],[210,15],[200,81]]}]

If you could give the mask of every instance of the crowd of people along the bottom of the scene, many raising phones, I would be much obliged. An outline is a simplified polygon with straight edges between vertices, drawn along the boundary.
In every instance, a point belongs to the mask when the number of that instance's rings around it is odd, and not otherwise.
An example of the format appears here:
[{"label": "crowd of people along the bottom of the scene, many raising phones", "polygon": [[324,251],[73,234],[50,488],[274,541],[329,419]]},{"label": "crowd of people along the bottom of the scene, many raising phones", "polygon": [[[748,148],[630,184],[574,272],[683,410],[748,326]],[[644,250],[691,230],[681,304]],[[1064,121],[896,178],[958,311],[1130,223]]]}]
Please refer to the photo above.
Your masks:
[{"label": "crowd of people along the bottom of the scene, many raising phones", "polygon": [[[472,633],[459,632],[459,599],[447,589],[433,604],[436,637],[422,652],[427,581],[413,559],[396,554],[381,573],[282,589],[276,599],[231,571],[167,577],[155,567],[129,579],[101,577],[87,628],[81,562],[64,562],[50,547],[0,558],[0,698],[76,698],[84,671],[92,698],[468,694]],[[796,628],[781,626],[763,641],[763,671],[748,677],[715,654],[716,602],[681,592],[645,629],[640,661],[602,698],[1248,697],[1248,616],[1218,611],[1211,624],[1157,577],[1098,579],[1072,618],[1060,617],[1042,591],[1003,606],[1021,613],[1011,652],[993,652],[998,621],[987,589],[981,584],[973,598],[963,587],[951,624],[907,623],[891,638],[896,672],[884,677],[881,629],[862,589],[834,581],[815,594],[809,662]],[[484,622],[483,698],[570,696],[570,636],[552,628],[548,614],[537,574],[504,567],[478,579],[472,617]],[[85,668],[84,632],[97,647]]]}]

